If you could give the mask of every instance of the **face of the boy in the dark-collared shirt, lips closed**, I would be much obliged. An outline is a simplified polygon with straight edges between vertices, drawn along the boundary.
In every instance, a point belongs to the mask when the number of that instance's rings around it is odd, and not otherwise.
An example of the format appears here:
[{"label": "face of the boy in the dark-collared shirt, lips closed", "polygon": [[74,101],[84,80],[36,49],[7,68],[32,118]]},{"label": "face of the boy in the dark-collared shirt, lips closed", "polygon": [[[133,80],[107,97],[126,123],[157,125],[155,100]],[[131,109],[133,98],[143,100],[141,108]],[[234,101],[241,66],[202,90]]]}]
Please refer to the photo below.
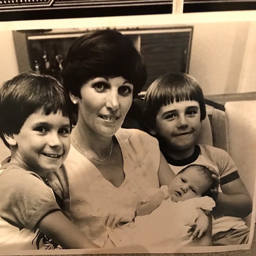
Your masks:
[{"label": "face of the boy in the dark-collared shirt, lips closed", "polygon": [[156,116],[155,132],[172,150],[194,146],[201,130],[197,101],[179,101],[162,106]]}]

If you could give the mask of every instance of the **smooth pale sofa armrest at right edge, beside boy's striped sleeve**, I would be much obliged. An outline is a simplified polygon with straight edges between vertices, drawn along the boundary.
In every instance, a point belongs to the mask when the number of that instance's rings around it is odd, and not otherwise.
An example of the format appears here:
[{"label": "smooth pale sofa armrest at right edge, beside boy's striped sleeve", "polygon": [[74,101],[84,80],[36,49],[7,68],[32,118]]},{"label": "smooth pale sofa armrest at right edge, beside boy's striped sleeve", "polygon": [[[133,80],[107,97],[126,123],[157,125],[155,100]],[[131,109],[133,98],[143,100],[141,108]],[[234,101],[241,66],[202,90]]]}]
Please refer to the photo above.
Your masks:
[{"label": "smooth pale sofa armrest at right edge, beside boy's striped sleeve", "polygon": [[[256,173],[256,101],[225,104],[227,151],[234,159],[241,180],[254,198]],[[254,206],[255,207],[255,206]],[[250,215],[246,218],[250,224]]]}]

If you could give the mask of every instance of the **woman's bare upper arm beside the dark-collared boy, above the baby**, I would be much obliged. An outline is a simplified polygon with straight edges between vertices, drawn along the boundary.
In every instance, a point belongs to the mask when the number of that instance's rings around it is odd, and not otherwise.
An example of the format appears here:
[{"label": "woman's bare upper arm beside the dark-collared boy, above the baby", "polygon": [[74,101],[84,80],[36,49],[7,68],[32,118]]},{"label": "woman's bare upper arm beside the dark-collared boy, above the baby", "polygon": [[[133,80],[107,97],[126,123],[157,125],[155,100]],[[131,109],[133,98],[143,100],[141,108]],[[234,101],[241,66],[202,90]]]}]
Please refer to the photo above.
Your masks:
[{"label": "woman's bare upper arm beside the dark-collared boy, above the baby", "polygon": [[160,152],[160,163],[159,163],[159,170],[158,170],[158,179],[160,186],[167,185],[169,186],[170,182],[174,179],[175,173],[168,165],[165,157]]}]

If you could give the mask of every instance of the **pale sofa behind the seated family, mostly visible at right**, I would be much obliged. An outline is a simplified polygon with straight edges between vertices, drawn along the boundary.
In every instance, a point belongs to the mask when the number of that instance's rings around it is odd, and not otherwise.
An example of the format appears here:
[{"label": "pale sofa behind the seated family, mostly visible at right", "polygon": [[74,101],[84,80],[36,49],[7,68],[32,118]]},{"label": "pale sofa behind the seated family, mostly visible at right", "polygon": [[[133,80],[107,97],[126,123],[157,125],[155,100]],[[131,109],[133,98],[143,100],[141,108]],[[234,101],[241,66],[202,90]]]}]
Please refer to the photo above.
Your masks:
[{"label": "pale sofa behind the seated family, mostly visible at right", "polygon": [[[213,104],[214,105],[214,104]],[[218,106],[218,105],[217,105]],[[206,106],[198,143],[225,149],[235,161],[239,175],[253,198],[256,169],[256,101],[227,102],[225,109]],[[0,161],[10,155],[0,140]],[[250,223],[251,215],[246,218]]]}]

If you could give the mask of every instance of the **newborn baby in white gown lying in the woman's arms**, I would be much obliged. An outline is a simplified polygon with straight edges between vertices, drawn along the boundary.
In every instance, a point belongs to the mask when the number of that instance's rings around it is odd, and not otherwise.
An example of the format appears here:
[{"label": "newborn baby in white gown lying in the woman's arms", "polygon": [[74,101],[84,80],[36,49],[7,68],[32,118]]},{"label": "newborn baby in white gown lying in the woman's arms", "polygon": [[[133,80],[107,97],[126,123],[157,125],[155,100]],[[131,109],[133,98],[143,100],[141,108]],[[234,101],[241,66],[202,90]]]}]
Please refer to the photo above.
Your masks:
[{"label": "newborn baby in white gown lying in the woman's arms", "polygon": [[[116,239],[115,245],[140,244],[147,248],[161,246],[175,250],[188,244],[193,239],[188,236],[188,230],[196,225],[198,208],[208,214],[215,207],[214,200],[206,196],[211,188],[211,171],[203,165],[188,165],[175,176],[169,188],[162,186],[143,191],[144,198],[137,208],[134,223],[123,226],[126,233]],[[144,215],[145,212],[150,213]],[[200,236],[207,226],[199,228]]]}]

